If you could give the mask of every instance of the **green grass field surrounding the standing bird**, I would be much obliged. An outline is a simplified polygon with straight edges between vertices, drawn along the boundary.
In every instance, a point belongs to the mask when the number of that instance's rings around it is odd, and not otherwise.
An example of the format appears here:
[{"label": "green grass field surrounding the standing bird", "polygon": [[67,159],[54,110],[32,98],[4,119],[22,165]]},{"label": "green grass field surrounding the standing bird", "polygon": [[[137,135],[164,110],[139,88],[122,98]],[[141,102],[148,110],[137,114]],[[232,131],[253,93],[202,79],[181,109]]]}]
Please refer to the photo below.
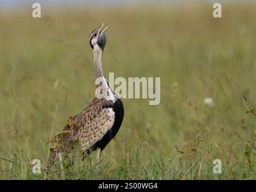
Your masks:
[{"label": "green grass field surrounding the standing bird", "polygon": [[[245,114],[256,97],[255,8],[223,5],[222,19],[210,4],[1,13],[0,178],[256,179],[256,119]],[[34,174],[51,133],[95,96],[89,34],[103,22],[105,74],[161,77],[161,103],[123,99],[122,127],[99,164],[93,153]]]}]

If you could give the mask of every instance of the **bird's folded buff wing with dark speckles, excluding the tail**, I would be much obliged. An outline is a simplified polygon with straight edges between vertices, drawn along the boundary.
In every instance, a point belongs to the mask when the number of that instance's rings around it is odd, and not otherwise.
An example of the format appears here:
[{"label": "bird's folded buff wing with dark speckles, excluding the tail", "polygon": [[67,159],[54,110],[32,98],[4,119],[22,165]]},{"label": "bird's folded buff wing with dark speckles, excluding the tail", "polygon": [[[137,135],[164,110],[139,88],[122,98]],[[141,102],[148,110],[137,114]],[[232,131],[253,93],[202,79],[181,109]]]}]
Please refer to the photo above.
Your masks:
[{"label": "bird's folded buff wing with dark speckles, excluding the tail", "polygon": [[113,126],[112,107],[113,101],[95,98],[80,115],[73,119],[73,127],[77,131],[72,140],[80,140],[83,151],[95,145]]}]

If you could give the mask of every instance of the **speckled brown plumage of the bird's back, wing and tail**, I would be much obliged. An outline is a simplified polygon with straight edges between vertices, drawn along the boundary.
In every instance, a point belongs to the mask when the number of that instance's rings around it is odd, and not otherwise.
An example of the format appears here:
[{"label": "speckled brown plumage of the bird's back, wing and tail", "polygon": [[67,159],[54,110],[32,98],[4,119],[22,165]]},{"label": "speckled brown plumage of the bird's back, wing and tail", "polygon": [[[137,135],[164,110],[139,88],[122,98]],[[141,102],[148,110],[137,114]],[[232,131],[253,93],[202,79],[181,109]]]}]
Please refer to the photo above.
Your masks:
[{"label": "speckled brown plumage of the bird's back, wing and tail", "polygon": [[82,151],[87,151],[102,139],[114,124],[112,100],[95,98],[80,114],[68,119],[60,134],[55,136],[57,146],[51,149],[51,159],[57,157],[58,152],[70,153],[69,143],[80,142]]}]

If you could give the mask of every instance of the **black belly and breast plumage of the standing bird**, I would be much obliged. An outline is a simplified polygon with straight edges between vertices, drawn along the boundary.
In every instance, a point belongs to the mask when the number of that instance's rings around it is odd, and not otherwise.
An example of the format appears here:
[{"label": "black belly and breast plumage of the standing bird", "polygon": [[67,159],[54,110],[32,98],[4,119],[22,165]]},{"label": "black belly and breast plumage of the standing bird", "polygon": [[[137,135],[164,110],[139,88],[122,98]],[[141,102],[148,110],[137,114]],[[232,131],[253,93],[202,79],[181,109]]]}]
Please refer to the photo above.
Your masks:
[{"label": "black belly and breast plumage of the standing bird", "polygon": [[[113,106],[109,106],[109,108],[112,108],[114,111],[114,124],[111,128],[111,130],[109,130],[105,136],[102,137],[101,140],[99,140],[98,142],[95,143],[95,145],[92,146],[93,150],[96,150],[97,148],[100,148],[101,150],[103,150],[105,148],[105,146],[111,141],[111,139],[114,138],[114,136],[116,136],[122,122],[123,122],[123,114],[124,114],[124,110],[123,110],[123,103],[120,99],[117,99],[116,102],[114,102]],[[87,154],[89,154],[89,151],[87,151]]]}]

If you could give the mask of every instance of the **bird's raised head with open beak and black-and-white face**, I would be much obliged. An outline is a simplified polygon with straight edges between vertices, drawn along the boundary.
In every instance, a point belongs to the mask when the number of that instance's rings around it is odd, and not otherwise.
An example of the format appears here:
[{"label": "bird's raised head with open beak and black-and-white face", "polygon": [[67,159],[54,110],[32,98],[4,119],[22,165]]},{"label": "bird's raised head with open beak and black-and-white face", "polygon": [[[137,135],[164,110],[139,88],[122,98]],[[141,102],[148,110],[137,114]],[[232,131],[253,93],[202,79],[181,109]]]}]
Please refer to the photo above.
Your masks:
[{"label": "bird's raised head with open beak and black-and-white face", "polygon": [[103,28],[104,23],[99,27],[98,29],[95,29],[91,34],[90,34],[90,46],[92,49],[95,49],[96,46],[99,46],[101,50],[104,50],[105,44],[107,42],[106,38],[106,31],[110,27],[110,25],[107,26],[103,31],[101,29]]}]

